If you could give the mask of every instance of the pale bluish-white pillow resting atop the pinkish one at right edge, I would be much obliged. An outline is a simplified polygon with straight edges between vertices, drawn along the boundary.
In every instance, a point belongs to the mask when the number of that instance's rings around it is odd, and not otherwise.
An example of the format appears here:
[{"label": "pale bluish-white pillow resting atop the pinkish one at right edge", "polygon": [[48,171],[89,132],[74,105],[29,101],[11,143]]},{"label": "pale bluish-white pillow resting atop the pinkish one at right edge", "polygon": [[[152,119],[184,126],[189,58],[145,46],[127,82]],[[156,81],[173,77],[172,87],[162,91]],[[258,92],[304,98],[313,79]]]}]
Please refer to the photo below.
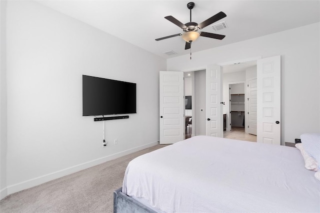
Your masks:
[{"label": "pale bluish-white pillow resting atop the pinkish one at right edge", "polygon": [[320,166],[320,133],[302,134],[300,139],[305,152]]}]

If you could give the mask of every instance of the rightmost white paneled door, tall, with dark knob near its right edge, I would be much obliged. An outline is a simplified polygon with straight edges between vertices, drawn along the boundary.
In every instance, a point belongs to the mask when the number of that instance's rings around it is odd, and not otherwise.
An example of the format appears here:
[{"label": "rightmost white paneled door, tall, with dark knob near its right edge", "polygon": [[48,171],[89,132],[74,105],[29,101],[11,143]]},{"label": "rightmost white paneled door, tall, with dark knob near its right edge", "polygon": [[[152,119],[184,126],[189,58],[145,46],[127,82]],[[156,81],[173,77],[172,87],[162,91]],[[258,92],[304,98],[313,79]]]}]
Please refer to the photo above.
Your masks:
[{"label": "rightmost white paneled door, tall, with dark knob near its right edge", "polygon": [[257,142],[280,145],[280,56],[257,60]]}]

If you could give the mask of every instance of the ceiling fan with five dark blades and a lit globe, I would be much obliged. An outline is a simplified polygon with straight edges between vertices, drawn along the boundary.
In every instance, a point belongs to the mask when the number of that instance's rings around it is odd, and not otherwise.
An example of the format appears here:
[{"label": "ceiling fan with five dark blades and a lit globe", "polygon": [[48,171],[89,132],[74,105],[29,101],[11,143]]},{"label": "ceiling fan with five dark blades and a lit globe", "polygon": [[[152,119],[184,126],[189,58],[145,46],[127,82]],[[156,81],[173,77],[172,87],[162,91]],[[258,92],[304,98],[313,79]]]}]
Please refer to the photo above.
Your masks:
[{"label": "ceiling fan with five dark blades and a lit globe", "polygon": [[210,18],[206,19],[205,21],[198,24],[198,23],[191,21],[191,9],[194,7],[194,3],[189,2],[186,4],[186,7],[188,9],[190,9],[190,22],[183,24],[171,15],[164,17],[165,19],[171,21],[172,23],[174,23],[175,25],[180,27],[184,33],[178,33],[178,34],[169,35],[169,36],[165,36],[165,37],[161,37],[161,38],[156,38],[155,39],[156,41],[182,35],[183,40],[185,40],[185,48],[184,49],[190,49],[191,43],[193,41],[195,41],[199,36],[208,37],[208,38],[215,38],[215,39],[219,39],[219,40],[221,40],[225,37],[225,35],[214,34],[214,33],[210,33],[210,32],[197,32],[199,29],[202,29],[202,28],[206,27],[207,25],[209,25],[215,21],[218,21],[221,18],[226,17],[226,14],[224,12],[218,12],[215,15],[213,15],[212,17],[210,17]]}]

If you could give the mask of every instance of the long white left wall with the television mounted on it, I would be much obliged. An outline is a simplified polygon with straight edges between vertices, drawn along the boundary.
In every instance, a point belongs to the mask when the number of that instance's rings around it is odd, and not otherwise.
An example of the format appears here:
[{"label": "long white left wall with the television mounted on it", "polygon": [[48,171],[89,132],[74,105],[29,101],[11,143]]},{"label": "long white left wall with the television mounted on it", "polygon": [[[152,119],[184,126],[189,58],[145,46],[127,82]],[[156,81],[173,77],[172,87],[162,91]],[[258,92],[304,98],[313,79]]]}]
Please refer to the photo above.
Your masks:
[{"label": "long white left wall with the television mounted on it", "polygon": [[[1,189],[10,194],[157,144],[164,59],[36,2],[8,1],[5,18],[9,119]],[[102,122],[82,117],[82,74],[136,83],[137,113],[105,122],[107,147]]]}]

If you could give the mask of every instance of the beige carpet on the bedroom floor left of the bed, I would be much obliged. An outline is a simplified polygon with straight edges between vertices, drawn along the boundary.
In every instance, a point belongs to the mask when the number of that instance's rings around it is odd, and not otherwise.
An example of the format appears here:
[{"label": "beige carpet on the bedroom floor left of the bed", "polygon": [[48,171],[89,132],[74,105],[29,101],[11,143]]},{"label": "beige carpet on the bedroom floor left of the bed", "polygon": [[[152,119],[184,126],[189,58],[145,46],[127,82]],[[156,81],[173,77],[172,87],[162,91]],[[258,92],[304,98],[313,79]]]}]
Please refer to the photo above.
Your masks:
[{"label": "beige carpet on the bedroom floor left of the bed", "polygon": [[122,186],[127,164],[164,147],[156,145],[7,196],[1,213],[112,213],[113,191]]}]

